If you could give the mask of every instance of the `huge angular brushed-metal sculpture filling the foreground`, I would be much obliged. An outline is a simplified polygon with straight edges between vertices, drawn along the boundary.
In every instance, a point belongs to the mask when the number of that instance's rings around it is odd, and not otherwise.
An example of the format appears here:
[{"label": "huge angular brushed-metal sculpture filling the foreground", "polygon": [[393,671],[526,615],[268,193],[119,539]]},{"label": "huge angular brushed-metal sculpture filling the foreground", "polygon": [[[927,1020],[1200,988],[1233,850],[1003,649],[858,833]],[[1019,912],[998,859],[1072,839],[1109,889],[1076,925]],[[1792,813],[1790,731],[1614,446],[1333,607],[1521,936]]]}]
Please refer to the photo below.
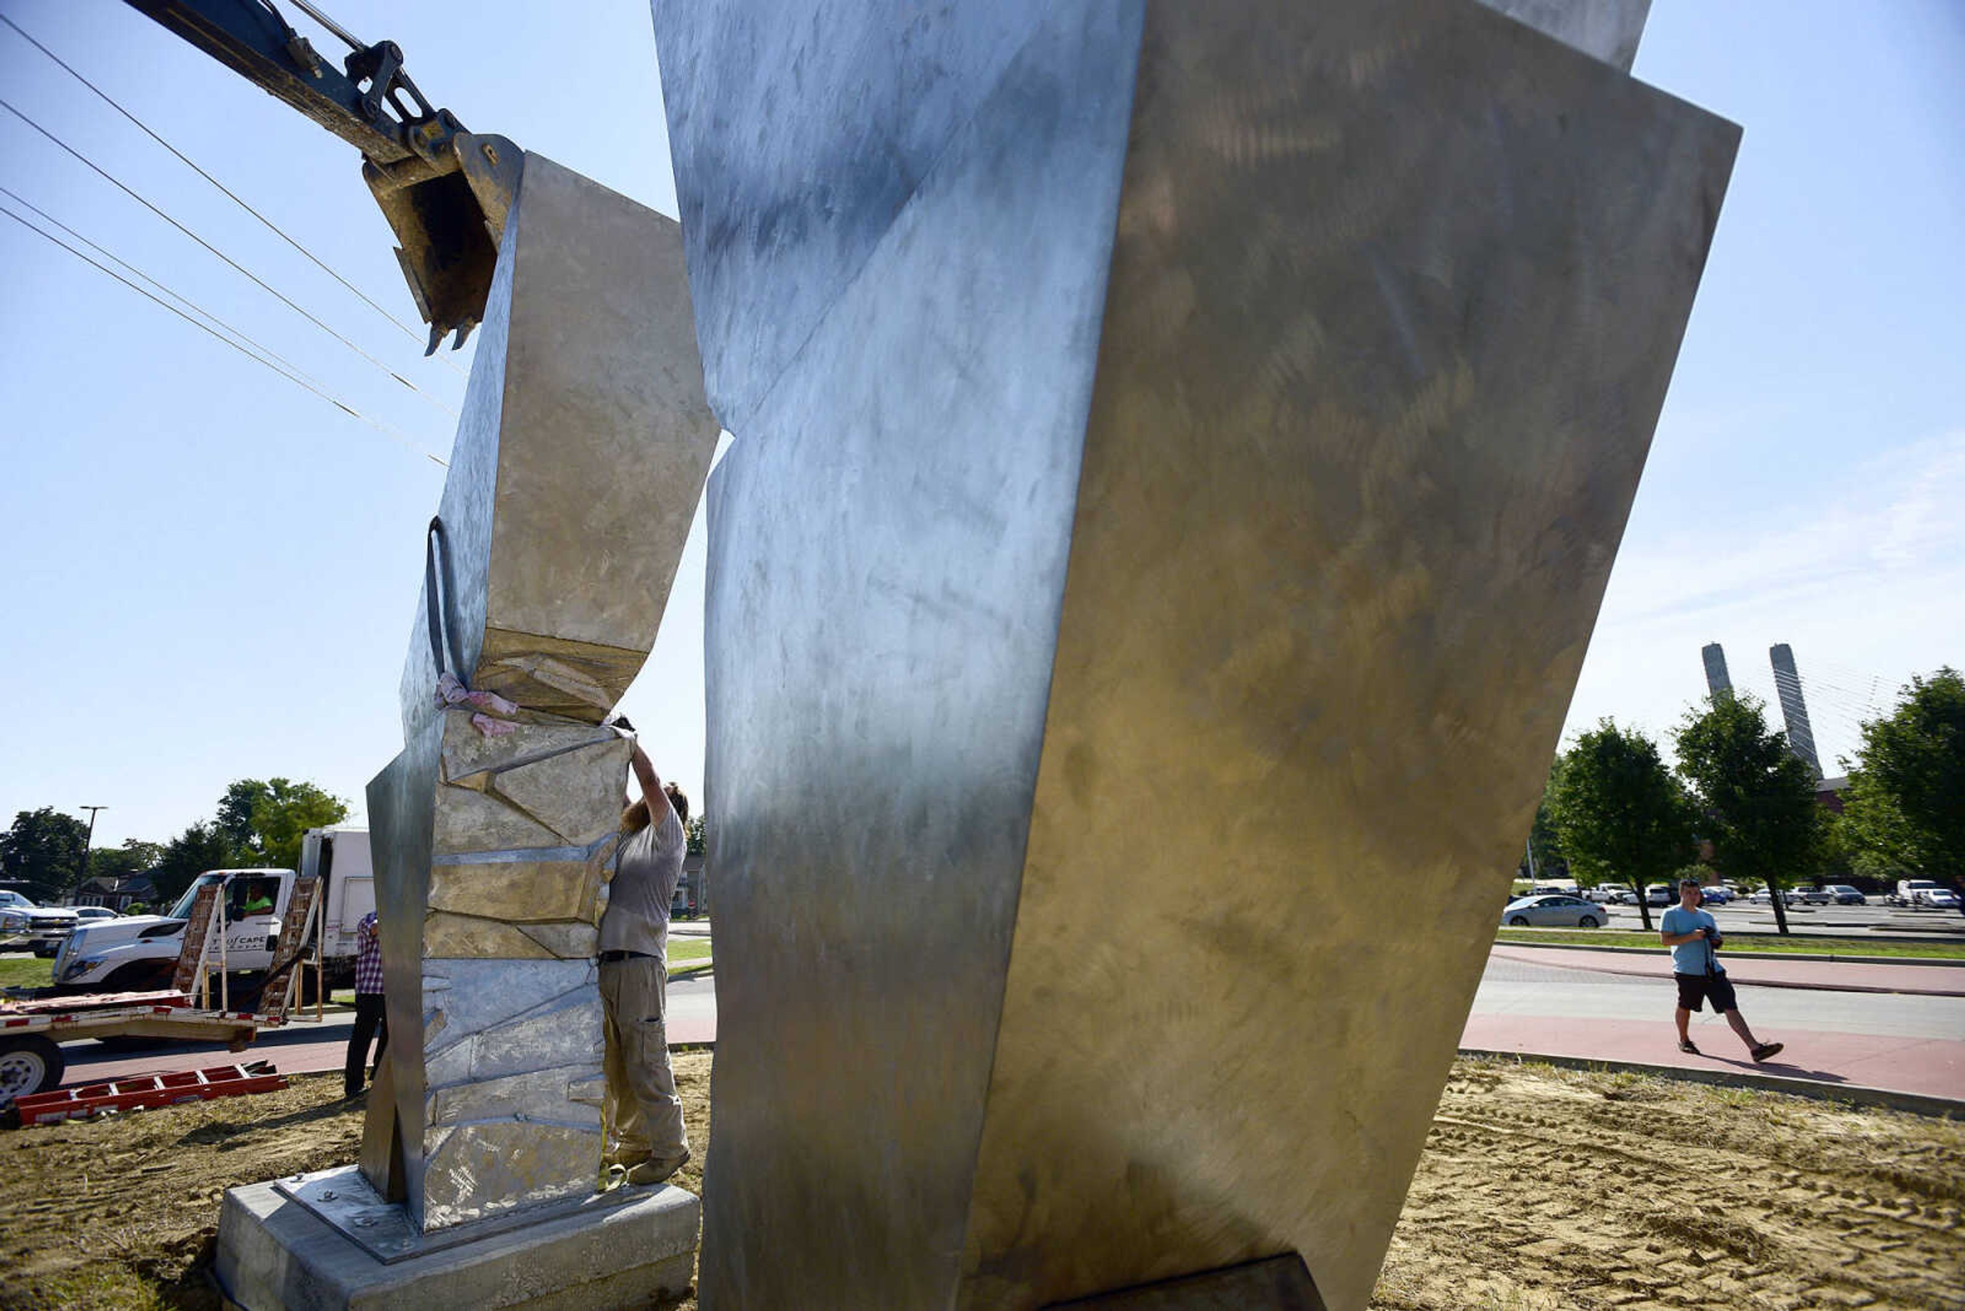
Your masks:
[{"label": "huge angular brushed-metal sculpture filling the foreground", "polygon": [[1737,145],[1582,8],[656,0],[705,1309],[1366,1303]]}]

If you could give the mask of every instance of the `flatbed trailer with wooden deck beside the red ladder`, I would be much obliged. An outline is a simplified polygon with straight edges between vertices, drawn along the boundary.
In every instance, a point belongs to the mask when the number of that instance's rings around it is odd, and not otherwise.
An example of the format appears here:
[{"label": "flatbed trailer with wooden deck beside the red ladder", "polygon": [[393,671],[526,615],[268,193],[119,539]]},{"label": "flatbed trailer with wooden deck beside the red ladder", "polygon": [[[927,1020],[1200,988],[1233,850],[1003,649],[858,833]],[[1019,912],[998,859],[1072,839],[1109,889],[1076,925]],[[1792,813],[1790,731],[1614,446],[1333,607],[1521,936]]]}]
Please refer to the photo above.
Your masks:
[{"label": "flatbed trailer with wooden deck beside the red ladder", "polygon": [[104,993],[0,1000],[0,1109],[61,1083],[61,1044],[84,1038],[222,1042],[244,1052],[261,1028],[285,1016],[200,1010],[183,993]]}]

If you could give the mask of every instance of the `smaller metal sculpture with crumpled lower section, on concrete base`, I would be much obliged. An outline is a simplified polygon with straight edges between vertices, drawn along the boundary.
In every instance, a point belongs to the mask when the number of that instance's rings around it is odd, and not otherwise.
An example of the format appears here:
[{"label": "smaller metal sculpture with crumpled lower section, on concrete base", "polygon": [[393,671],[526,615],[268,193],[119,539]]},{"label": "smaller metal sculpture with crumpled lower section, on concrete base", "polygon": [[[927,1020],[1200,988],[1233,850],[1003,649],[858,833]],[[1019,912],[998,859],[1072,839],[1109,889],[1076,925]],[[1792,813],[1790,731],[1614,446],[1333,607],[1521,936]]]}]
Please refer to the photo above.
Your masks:
[{"label": "smaller metal sculpture with crumpled lower section, on concrete base", "polygon": [[[369,784],[391,1097],[364,1166],[424,1232],[593,1191],[593,904],[717,425],[676,224],[529,155]],[[450,688],[450,672],[474,696]]]}]

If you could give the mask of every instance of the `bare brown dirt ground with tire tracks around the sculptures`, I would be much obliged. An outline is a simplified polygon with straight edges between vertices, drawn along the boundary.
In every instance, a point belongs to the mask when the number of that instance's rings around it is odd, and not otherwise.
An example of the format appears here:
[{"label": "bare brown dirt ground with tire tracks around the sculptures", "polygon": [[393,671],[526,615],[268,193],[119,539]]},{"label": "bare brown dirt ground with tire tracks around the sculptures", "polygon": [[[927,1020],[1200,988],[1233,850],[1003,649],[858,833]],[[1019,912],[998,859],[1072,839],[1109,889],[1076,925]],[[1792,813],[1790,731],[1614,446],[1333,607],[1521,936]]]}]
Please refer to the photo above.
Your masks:
[{"label": "bare brown dirt ground with tire tracks around the sculptures", "polygon": [[[676,1083],[698,1152],[678,1181],[698,1191],[709,1055],[680,1055]],[[362,1114],[338,1093],[314,1075],[0,1134],[0,1307],[212,1311],[220,1193],[352,1162]],[[1955,1309],[1961,1207],[1953,1120],[1460,1061],[1372,1307]]]}]

